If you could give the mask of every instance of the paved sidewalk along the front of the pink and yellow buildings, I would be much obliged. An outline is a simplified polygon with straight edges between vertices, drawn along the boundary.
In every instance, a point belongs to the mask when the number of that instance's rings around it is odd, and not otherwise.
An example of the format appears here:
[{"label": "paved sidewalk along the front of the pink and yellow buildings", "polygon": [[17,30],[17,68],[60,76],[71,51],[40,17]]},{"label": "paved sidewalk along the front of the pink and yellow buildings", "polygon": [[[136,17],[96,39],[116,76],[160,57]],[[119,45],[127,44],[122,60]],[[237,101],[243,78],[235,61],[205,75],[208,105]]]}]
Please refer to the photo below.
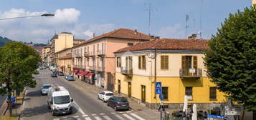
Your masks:
[{"label": "paved sidewalk along the front of the pink and yellow buildings", "polygon": [[[64,77],[62,77],[63,80],[67,81]],[[67,81],[69,82],[69,81]],[[91,85],[86,83],[85,81],[81,81],[79,79],[76,79],[75,81],[70,81],[70,84],[75,86],[77,89],[83,92],[90,91],[93,94],[98,94],[100,91],[106,91],[106,89],[100,88],[95,85]],[[121,94],[116,94],[115,96],[123,96]],[[131,98],[128,98],[126,96],[123,96],[128,99],[129,105],[133,111],[139,112],[140,114],[143,114],[144,116],[149,116],[150,118],[156,118],[158,119],[160,117],[160,113],[156,110],[149,109],[146,106],[143,106],[142,104],[138,104],[137,101],[134,101]]]}]

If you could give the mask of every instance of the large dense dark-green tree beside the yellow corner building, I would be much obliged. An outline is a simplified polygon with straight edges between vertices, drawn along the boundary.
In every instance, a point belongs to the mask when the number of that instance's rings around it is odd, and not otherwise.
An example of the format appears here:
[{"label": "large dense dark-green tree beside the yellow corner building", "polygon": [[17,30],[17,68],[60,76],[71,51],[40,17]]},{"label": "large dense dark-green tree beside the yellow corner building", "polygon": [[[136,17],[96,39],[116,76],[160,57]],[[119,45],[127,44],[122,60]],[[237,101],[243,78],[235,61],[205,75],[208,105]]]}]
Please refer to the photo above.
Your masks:
[{"label": "large dense dark-green tree beside the yellow corner building", "polygon": [[225,19],[209,41],[207,76],[229,99],[256,111],[256,7]]}]

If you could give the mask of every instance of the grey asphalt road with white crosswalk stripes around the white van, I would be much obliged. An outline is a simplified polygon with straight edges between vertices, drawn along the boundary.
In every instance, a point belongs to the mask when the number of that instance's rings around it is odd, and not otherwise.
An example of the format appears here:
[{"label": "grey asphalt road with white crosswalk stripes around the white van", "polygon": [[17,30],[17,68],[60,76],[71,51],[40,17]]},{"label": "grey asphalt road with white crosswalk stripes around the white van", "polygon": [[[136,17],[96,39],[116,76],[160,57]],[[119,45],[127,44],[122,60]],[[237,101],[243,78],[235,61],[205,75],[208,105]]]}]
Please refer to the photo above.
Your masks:
[{"label": "grey asphalt road with white crosswalk stripes around the white van", "polygon": [[[24,110],[22,111],[23,120],[45,120],[45,119],[61,119],[67,116],[73,116],[77,119],[96,119],[96,120],[143,120],[143,118],[133,111],[117,111],[107,106],[103,101],[97,99],[97,94],[81,91],[70,85],[72,81],[66,81],[61,76],[52,78],[48,70],[40,70],[34,78],[37,80],[37,86],[34,89],[28,89],[24,101]],[[52,116],[52,112],[48,109],[46,96],[40,94],[42,84],[56,84],[64,86],[70,91],[70,96],[74,99],[73,106],[75,110],[72,114],[63,116]]]}]

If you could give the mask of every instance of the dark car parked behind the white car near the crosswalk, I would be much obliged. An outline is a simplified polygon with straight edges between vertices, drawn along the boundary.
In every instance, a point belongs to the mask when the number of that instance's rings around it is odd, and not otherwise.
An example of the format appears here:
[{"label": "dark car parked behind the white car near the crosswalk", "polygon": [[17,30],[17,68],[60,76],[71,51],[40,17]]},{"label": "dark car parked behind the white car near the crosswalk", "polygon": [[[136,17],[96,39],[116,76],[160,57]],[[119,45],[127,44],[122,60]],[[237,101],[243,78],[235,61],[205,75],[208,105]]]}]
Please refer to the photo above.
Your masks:
[{"label": "dark car parked behind the white car near the crosswalk", "polygon": [[129,110],[129,101],[125,97],[112,96],[108,99],[107,105],[115,109],[115,111]]}]

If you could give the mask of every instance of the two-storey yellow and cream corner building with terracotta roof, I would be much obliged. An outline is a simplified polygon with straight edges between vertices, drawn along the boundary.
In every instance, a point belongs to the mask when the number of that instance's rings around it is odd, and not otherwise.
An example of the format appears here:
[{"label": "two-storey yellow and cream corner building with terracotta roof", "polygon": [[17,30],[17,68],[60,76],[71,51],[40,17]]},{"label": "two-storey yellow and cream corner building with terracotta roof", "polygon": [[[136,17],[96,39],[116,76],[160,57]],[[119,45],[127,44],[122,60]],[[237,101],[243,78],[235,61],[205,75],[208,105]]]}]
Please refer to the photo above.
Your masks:
[{"label": "two-storey yellow and cream corner building with terracotta roof", "polygon": [[199,109],[223,103],[224,94],[205,72],[205,49],[203,39],[156,39],[120,49],[115,52],[115,91],[155,108],[160,103],[155,83],[161,82],[163,103],[170,109],[182,109],[185,94]]}]

